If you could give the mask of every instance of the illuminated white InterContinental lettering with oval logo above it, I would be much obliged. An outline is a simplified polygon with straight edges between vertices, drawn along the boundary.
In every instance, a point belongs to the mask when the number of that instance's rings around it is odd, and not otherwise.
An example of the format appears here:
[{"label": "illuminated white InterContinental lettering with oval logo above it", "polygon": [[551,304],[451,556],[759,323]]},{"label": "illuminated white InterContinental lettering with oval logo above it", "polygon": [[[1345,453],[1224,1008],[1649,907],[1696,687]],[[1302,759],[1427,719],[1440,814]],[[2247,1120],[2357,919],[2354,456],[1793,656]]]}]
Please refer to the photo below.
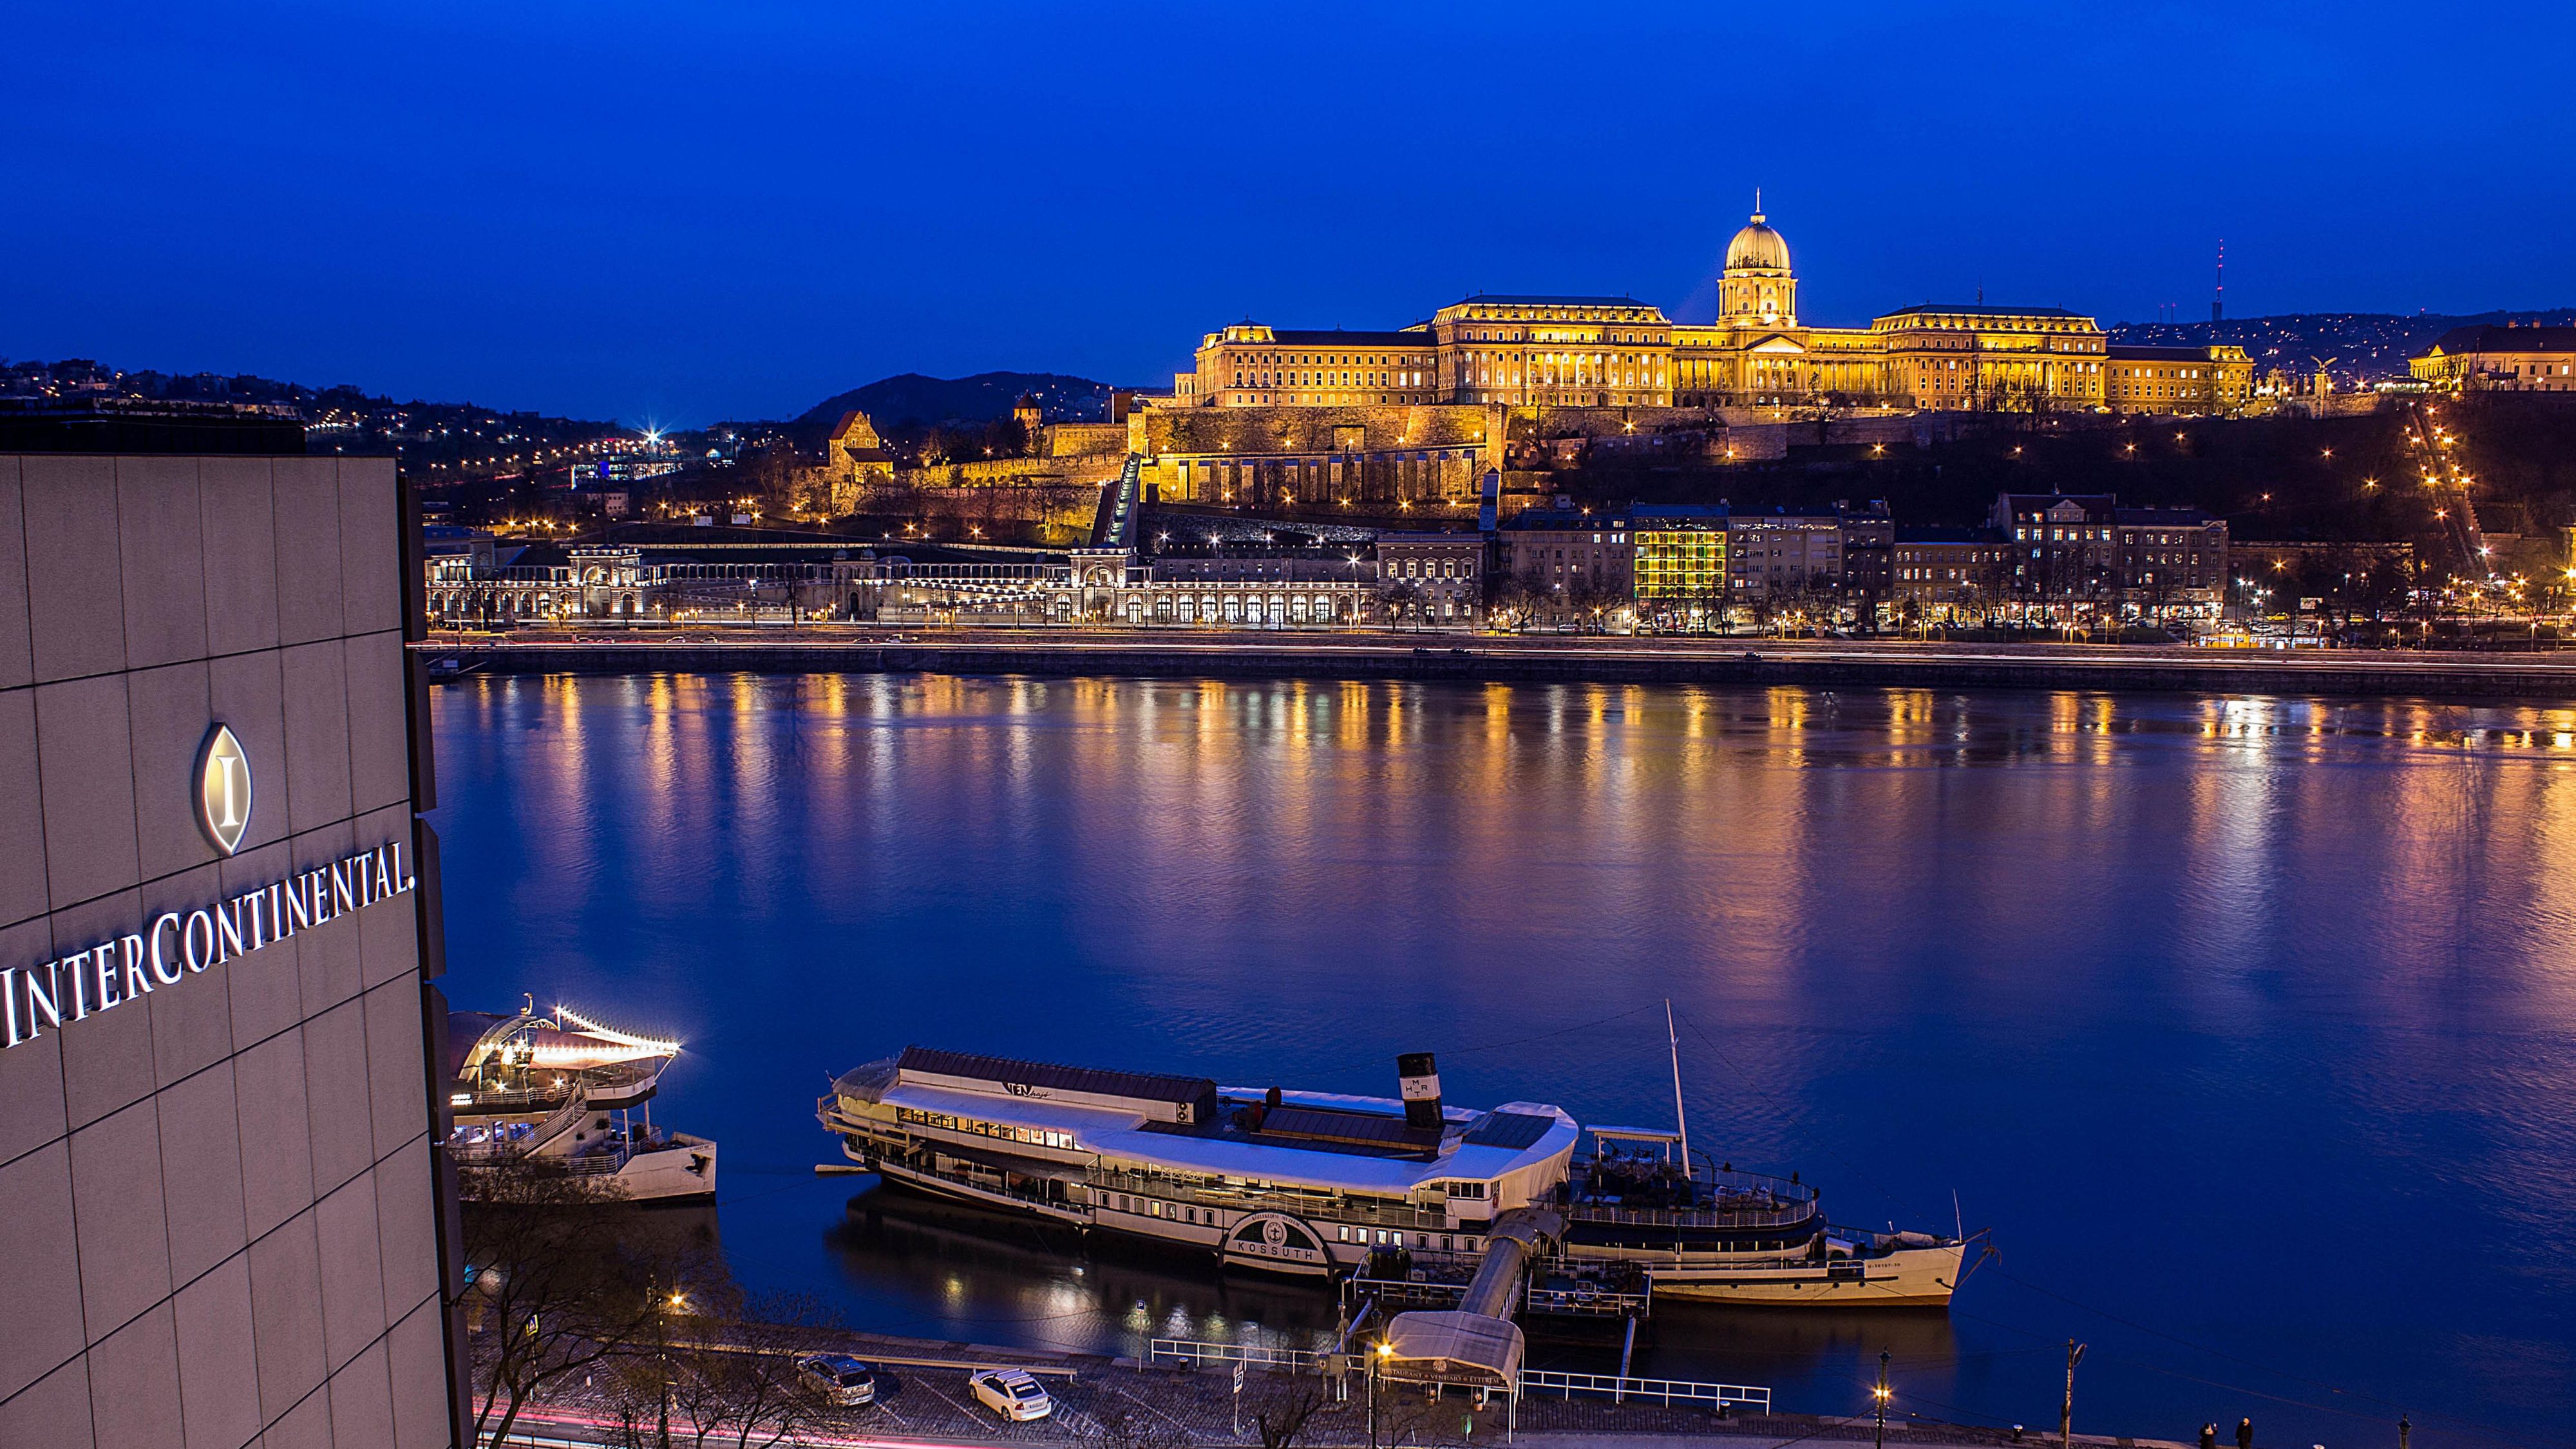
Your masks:
[{"label": "illuminated white InterContinental lettering with oval logo above it", "polygon": [[[193,768],[198,828],[232,853],[250,828],[250,758],[232,730],[206,735]],[[196,910],[162,910],[142,931],[100,941],[41,967],[0,967],[0,1024],[8,1047],[33,1042],[46,1026],[85,1021],[183,985],[224,962],[325,926],[379,900],[410,892],[412,866],[402,841],[343,856],[325,866],[245,890]]]}]

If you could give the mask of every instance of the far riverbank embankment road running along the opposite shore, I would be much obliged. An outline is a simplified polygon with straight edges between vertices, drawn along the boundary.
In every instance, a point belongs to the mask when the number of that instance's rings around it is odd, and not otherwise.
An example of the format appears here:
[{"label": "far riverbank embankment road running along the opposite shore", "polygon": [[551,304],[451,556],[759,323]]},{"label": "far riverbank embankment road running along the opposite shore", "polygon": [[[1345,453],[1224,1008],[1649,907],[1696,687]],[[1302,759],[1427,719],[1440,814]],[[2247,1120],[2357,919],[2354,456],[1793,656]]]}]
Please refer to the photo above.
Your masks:
[{"label": "far riverbank embankment road running along the opposite shore", "polygon": [[768,627],[435,634],[448,673],[1030,673],[1710,683],[1852,688],[2089,688],[2424,696],[2576,704],[2576,652],[2218,650],[1919,639],[1571,634],[1221,634],[1149,629]]}]

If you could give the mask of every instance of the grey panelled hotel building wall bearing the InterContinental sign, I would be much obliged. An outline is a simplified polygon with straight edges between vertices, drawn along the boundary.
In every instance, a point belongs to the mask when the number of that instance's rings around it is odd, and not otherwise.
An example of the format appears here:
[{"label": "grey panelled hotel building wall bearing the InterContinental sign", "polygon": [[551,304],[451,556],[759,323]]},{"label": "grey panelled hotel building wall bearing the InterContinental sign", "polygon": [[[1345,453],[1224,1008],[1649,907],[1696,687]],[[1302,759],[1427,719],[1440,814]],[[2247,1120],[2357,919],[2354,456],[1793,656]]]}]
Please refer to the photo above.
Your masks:
[{"label": "grey panelled hotel building wall bearing the InterContinental sign", "polygon": [[394,464],[294,449],[0,451],[8,1446],[456,1441]]}]

